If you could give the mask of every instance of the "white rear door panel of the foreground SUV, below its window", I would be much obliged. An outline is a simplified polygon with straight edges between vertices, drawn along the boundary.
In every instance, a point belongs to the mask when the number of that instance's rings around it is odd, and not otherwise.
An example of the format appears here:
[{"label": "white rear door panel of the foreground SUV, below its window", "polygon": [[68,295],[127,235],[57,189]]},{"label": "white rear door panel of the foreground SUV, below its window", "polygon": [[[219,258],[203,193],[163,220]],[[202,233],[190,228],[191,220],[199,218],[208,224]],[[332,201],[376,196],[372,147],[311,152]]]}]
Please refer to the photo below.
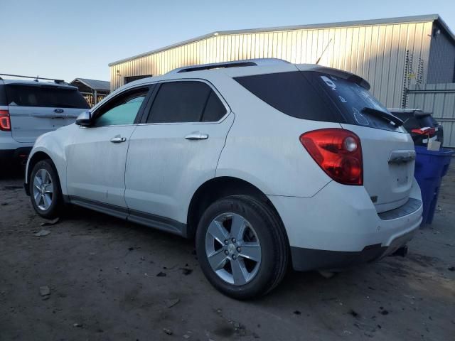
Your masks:
[{"label": "white rear door panel of the foreground SUV, below its window", "polygon": [[[186,223],[188,205],[215,170],[235,115],[218,123],[140,124],[129,143],[125,200],[129,209]],[[208,134],[187,140],[188,134]]]}]

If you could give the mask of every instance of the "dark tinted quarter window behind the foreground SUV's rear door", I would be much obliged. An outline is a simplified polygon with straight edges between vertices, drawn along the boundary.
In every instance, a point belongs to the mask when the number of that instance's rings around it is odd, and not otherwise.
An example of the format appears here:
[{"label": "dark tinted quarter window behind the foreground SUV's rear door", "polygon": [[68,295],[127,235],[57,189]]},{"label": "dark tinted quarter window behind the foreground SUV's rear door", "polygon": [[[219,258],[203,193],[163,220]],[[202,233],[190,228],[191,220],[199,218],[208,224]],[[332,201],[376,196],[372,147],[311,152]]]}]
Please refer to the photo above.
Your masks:
[{"label": "dark tinted quarter window behind the foreground SUV's rear door", "polygon": [[343,119],[302,72],[236,77],[235,80],[259,99],[289,116],[328,122]]}]

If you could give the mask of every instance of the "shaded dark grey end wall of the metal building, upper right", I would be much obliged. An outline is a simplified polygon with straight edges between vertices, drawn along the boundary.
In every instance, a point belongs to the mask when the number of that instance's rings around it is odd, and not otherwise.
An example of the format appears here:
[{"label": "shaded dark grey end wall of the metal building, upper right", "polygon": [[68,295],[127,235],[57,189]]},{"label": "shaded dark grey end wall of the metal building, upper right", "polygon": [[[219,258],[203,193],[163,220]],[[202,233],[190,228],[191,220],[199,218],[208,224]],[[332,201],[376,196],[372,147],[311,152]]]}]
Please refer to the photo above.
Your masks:
[{"label": "shaded dark grey end wall of the metal building, upper right", "polygon": [[432,38],[429,50],[428,83],[455,82],[455,44],[444,31],[440,31]]}]

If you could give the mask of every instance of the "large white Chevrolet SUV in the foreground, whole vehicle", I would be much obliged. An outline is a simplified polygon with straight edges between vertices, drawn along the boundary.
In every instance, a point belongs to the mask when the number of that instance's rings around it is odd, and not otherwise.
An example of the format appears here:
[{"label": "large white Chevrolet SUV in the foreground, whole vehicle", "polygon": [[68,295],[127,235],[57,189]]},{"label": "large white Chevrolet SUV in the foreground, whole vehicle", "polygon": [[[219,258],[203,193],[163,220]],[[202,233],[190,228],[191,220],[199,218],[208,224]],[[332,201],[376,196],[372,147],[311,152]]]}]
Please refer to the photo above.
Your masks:
[{"label": "large white Chevrolet SUV in the foreground, whole vehicle", "polygon": [[368,88],[283,60],[138,80],[38,138],[26,190],[43,217],[71,203],[196,237],[213,286],[259,296],[289,262],[337,271],[419,227],[412,139]]}]

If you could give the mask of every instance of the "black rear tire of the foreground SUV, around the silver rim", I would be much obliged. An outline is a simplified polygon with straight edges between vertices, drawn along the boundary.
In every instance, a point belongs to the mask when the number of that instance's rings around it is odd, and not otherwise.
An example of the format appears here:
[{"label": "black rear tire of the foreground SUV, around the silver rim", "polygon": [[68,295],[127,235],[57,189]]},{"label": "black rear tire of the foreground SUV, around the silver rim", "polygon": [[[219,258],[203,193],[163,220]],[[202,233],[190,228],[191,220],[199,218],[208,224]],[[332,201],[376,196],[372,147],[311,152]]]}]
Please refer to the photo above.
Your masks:
[{"label": "black rear tire of the foreground SUV, around the silver rim", "polygon": [[[223,280],[208,261],[206,234],[215,217],[224,213],[235,213],[245,217],[245,220],[254,227],[259,239],[261,261],[255,276],[244,285],[235,285]],[[232,195],[214,202],[203,213],[196,232],[196,252],[205,277],[218,291],[231,298],[246,300],[265,295],[282,281],[288,267],[289,242],[282,222],[272,207],[254,197]]]}]

